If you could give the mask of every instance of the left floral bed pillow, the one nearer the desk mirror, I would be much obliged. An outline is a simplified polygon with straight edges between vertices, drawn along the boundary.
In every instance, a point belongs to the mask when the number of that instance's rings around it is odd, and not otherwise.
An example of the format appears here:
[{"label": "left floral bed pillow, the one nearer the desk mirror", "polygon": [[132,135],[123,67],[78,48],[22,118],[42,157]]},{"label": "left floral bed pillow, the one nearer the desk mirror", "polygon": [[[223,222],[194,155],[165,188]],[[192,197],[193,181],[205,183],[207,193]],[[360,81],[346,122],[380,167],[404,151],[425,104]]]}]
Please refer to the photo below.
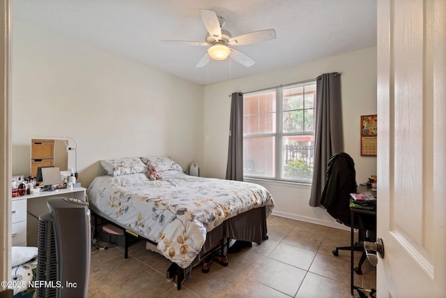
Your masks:
[{"label": "left floral bed pillow, the one nearer the desk mirror", "polygon": [[105,174],[113,177],[147,172],[146,165],[139,157],[103,160],[100,161],[100,165]]}]

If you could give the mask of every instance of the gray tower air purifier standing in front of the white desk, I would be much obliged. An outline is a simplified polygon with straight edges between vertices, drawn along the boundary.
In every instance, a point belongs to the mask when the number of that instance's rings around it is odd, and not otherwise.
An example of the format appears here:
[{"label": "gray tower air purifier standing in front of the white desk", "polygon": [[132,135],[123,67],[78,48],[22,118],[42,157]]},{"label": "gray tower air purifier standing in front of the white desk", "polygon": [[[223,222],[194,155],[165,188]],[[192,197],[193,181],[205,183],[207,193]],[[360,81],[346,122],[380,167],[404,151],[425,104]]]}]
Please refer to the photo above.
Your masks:
[{"label": "gray tower air purifier standing in front of the white desk", "polygon": [[49,212],[39,216],[38,298],[87,297],[91,223],[89,203],[49,198]]}]

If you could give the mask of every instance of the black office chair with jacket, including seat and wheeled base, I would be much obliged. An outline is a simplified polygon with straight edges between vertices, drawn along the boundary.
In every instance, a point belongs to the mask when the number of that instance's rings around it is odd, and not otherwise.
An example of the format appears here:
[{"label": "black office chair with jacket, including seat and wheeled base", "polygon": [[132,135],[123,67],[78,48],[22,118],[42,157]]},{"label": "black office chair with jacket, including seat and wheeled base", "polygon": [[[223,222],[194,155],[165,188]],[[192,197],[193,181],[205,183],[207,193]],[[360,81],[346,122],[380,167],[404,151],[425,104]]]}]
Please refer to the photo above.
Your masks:
[{"label": "black office chair with jacket, including seat and wheeled base", "polygon": [[[321,197],[321,205],[327,209],[337,222],[351,227],[350,213],[350,193],[356,193],[356,171],[353,158],[341,152],[334,154],[328,161],[327,179]],[[374,237],[375,218],[359,217],[355,218],[355,227],[358,233],[358,242],[353,246],[354,251],[362,251],[360,262],[355,267],[357,274],[362,274],[362,263],[367,258],[364,251],[363,241],[371,241]],[[339,250],[351,251],[351,246],[341,246],[335,248],[333,255],[339,255]]]}]

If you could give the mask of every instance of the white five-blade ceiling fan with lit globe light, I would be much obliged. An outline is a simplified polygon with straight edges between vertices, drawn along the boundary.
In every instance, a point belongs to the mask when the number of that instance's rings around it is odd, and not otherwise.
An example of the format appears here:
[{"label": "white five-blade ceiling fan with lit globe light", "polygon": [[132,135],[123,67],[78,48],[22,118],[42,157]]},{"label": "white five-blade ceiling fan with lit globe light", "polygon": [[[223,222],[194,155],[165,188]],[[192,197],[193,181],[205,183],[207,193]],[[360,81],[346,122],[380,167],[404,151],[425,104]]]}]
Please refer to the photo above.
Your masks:
[{"label": "white five-blade ceiling fan with lit globe light", "polygon": [[224,60],[228,56],[244,66],[252,66],[255,63],[253,59],[247,56],[247,54],[244,54],[243,52],[229,46],[249,45],[276,38],[276,31],[274,29],[254,31],[242,34],[240,36],[231,37],[231,33],[229,31],[222,29],[225,23],[224,18],[217,17],[217,14],[213,10],[201,9],[200,13],[201,20],[203,20],[204,26],[208,31],[206,41],[161,40],[162,43],[208,46],[208,52],[203,58],[201,58],[195,67],[205,66],[208,64],[210,59]]}]

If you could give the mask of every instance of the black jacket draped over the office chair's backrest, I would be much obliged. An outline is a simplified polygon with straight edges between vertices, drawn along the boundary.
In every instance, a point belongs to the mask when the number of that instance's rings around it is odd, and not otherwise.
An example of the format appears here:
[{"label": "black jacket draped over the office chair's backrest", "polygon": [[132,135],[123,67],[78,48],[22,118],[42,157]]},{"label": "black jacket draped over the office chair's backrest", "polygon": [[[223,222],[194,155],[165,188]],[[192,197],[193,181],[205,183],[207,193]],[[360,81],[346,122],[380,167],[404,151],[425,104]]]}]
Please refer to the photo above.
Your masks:
[{"label": "black jacket draped over the office chair's backrest", "polygon": [[350,225],[350,193],[356,193],[355,162],[348,154],[334,154],[328,161],[321,205],[336,221]]}]

